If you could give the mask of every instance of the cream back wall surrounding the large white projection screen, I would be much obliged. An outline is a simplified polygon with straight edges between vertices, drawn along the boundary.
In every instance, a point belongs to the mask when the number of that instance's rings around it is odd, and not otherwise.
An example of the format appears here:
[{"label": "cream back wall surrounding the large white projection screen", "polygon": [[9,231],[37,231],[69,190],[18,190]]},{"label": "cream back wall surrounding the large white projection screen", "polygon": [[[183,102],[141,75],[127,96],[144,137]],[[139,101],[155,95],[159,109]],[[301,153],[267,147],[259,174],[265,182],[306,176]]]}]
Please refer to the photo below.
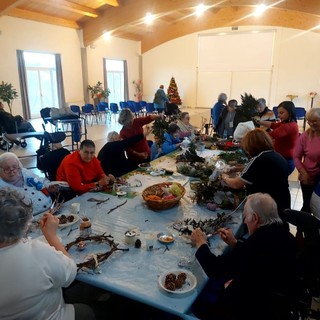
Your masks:
[{"label": "cream back wall surrounding the large white projection screen", "polygon": [[[299,30],[274,27],[240,27],[238,31],[276,29],[273,57],[273,72],[271,76],[270,90],[266,90],[265,98],[270,107],[288,100],[286,95],[295,94],[298,98],[294,100],[296,106],[310,107],[311,91],[320,94],[320,35],[317,33],[306,33]],[[208,30],[204,33],[231,32],[230,28]],[[197,97],[197,38],[199,33],[181,37],[164,43],[143,54],[143,81],[144,98],[152,100],[155,90],[163,83],[165,88],[169,86],[171,76],[177,82],[180,97],[184,106],[211,108],[216,101],[217,94],[213,84],[201,83],[205,86],[202,92],[212,96],[210,105],[198,105],[201,97]],[[223,50],[223,48],[220,48]],[[235,48],[235,54],[241,51],[241,47]],[[241,84],[243,87],[243,83]],[[246,92],[254,91],[255,83],[246,83]],[[261,92],[261,88],[258,88]],[[224,90],[227,94],[230,87]],[[236,91],[236,90],[235,90]],[[270,93],[268,93],[270,91]],[[221,91],[220,91],[221,92]],[[244,93],[244,92],[243,92]],[[203,93],[202,93],[203,94]],[[232,96],[240,101],[239,96]],[[256,97],[260,98],[260,97]],[[314,106],[320,106],[319,95],[316,96]]]}]

